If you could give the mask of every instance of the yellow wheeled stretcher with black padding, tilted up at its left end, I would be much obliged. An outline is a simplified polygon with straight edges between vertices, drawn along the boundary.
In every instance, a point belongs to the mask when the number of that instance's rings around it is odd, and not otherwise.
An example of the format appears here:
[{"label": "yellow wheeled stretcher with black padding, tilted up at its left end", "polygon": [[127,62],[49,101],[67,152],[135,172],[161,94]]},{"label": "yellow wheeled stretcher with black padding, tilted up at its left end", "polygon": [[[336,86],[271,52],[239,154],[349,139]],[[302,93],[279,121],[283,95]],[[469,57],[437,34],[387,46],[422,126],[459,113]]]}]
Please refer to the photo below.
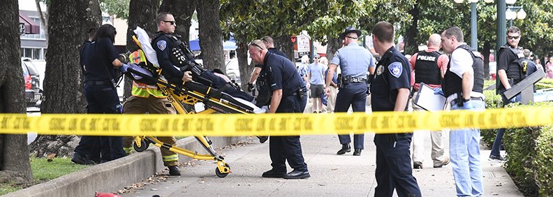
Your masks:
[{"label": "yellow wheeled stretcher with black padding, tilted up at its left end", "polygon": [[[142,48],[142,45],[136,38],[133,36],[135,43]],[[204,103],[206,110],[203,110],[202,114],[211,114],[214,112],[219,113],[242,113],[249,114],[253,113],[253,108],[250,105],[241,103],[232,96],[219,92],[218,89],[209,87],[207,85],[202,85],[197,82],[185,82],[184,85],[175,85],[168,80],[161,78],[161,68],[156,68],[151,65],[147,66],[149,62],[141,62],[138,64],[141,68],[146,68],[152,76],[144,75],[144,73],[133,71],[133,67],[129,68],[128,73],[131,73],[131,78],[137,82],[146,83],[149,85],[156,85],[161,92],[168,96],[168,100],[172,103],[177,110],[177,113],[181,115],[185,114],[195,114],[194,111],[187,111],[182,103],[189,105],[194,105],[198,102]],[[133,65],[135,66],[135,65]],[[154,70],[155,69],[155,70]],[[134,74],[134,75],[133,75]],[[129,76],[129,75],[128,75]],[[140,80],[135,79],[136,76],[141,78]],[[181,147],[168,145],[162,143],[154,136],[135,136],[134,149],[137,152],[142,152],[149,147],[149,143],[154,144],[156,147],[163,149],[169,149],[172,152],[177,154],[182,154],[184,156],[189,156],[193,159],[198,160],[213,160],[216,161],[217,167],[215,169],[215,174],[218,177],[226,177],[230,173],[230,166],[224,161],[223,156],[217,154],[215,149],[212,147],[212,142],[206,136],[194,136],[200,144],[205,148],[209,154],[198,154],[198,152],[191,151],[189,149],[183,149]]]}]

